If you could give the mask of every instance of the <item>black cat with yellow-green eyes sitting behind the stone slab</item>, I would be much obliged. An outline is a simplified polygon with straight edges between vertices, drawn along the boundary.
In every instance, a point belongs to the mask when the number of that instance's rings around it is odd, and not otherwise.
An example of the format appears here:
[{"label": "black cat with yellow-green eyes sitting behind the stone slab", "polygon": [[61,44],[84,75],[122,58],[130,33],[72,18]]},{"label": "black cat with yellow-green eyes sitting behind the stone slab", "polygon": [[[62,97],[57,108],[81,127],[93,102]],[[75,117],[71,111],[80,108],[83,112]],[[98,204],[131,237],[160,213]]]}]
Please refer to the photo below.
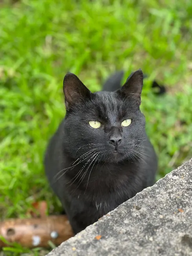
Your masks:
[{"label": "black cat with yellow-green eyes sitting behind the stone slab", "polygon": [[66,117],[44,165],[75,233],[154,184],[157,158],[139,109],[143,72],[123,87],[122,77],[116,73],[96,93],[76,75],[64,77]]}]

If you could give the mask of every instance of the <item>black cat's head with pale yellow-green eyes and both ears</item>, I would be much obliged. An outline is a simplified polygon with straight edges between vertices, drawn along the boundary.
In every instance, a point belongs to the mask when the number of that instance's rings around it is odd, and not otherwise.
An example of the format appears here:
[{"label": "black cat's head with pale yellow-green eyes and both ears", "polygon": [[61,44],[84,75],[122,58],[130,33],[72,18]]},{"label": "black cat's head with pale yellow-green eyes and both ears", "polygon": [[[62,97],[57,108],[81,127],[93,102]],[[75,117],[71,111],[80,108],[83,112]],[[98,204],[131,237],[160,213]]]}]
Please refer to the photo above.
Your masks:
[{"label": "black cat's head with pale yellow-green eyes and both ears", "polygon": [[139,109],[142,87],[141,69],[114,92],[91,93],[76,75],[68,73],[64,77],[64,145],[71,157],[118,163],[141,155],[145,136],[145,119]]}]

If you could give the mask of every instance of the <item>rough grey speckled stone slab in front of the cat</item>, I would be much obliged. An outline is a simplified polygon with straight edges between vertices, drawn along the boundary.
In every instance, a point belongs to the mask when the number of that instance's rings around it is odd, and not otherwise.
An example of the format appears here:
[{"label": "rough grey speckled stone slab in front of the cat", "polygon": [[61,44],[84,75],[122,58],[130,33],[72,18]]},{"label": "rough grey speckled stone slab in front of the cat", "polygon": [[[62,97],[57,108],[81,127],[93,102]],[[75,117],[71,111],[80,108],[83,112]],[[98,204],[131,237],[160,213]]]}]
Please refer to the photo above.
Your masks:
[{"label": "rough grey speckled stone slab in front of the cat", "polygon": [[48,254],[70,255],[192,255],[192,159]]}]

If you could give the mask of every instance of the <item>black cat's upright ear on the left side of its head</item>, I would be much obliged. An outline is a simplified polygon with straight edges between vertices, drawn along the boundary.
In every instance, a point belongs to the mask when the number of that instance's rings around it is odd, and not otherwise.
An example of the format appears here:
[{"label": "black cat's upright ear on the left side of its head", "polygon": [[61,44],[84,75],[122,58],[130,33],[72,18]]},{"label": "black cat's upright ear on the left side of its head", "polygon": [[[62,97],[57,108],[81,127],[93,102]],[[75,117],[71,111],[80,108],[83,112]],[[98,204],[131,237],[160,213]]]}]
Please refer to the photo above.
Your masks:
[{"label": "black cat's upright ear on the left side of its head", "polygon": [[90,98],[91,91],[73,73],[67,73],[63,80],[63,91],[65,95],[66,110],[74,103]]}]

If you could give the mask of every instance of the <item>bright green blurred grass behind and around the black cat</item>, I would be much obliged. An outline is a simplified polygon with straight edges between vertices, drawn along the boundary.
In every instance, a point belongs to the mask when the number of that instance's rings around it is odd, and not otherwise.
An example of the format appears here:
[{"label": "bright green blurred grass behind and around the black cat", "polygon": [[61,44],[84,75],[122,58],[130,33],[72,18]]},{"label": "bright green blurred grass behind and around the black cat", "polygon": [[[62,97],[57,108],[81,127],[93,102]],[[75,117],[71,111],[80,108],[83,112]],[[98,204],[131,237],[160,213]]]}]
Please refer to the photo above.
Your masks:
[{"label": "bright green blurred grass behind and around the black cat", "polygon": [[[27,217],[31,203],[42,199],[48,202],[49,213],[60,209],[42,158],[65,114],[62,80],[67,71],[97,91],[116,69],[129,75],[142,68],[149,78],[141,108],[159,156],[157,179],[192,157],[190,0],[4,2],[0,3],[1,219]],[[154,78],[166,84],[165,96],[156,97],[150,90]]]}]

